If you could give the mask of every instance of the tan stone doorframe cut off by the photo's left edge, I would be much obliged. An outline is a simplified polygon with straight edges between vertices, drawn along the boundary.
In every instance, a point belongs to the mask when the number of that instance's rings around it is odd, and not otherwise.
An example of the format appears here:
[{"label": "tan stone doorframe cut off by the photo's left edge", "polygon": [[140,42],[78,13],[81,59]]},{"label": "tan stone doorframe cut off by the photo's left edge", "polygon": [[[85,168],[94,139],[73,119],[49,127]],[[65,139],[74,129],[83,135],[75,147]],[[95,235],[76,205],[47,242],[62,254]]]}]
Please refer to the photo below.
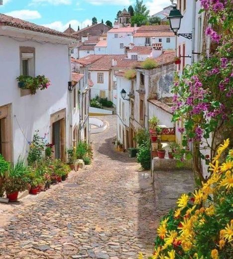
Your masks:
[{"label": "tan stone doorframe cut off by the photo's left edge", "polygon": [[[4,159],[13,162],[13,137],[12,137],[11,104],[0,106],[0,120],[3,121],[1,130],[4,131],[5,147],[2,155]],[[1,132],[0,132],[1,133]]]}]

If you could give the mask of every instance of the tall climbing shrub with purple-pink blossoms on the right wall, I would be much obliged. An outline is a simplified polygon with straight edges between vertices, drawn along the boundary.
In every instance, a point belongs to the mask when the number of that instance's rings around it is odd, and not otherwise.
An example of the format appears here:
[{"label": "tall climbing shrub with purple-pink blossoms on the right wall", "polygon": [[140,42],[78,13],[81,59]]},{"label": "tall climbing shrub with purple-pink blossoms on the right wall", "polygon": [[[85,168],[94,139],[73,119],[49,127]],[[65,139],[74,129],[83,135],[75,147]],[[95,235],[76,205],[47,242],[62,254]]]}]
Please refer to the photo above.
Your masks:
[{"label": "tall climbing shrub with purple-pink blossoms on the right wall", "polygon": [[[221,26],[221,35],[213,28],[206,35],[217,43],[214,53],[204,57],[191,67],[186,67],[183,76],[178,75],[173,87],[173,121],[184,121],[183,146],[193,143],[194,171],[202,181],[201,160],[212,159],[219,144],[231,134],[233,103],[233,39],[230,0],[201,0],[203,9],[210,15],[209,22]],[[209,150],[209,156],[206,156]]]}]

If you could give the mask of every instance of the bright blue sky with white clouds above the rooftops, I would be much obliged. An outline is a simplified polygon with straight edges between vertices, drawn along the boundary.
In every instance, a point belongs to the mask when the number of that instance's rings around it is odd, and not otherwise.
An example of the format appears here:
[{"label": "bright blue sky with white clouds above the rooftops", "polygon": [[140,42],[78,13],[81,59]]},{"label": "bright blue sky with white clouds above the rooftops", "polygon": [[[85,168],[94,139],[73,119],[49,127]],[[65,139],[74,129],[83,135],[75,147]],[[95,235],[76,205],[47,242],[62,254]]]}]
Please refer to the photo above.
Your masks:
[{"label": "bright blue sky with white clouds above the rooftops", "polygon": [[[143,0],[150,14],[171,4],[170,0]],[[0,13],[64,31],[69,24],[77,30],[92,24],[95,16],[114,22],[118,10],[127,9],[135,0],[3,0]]]}]

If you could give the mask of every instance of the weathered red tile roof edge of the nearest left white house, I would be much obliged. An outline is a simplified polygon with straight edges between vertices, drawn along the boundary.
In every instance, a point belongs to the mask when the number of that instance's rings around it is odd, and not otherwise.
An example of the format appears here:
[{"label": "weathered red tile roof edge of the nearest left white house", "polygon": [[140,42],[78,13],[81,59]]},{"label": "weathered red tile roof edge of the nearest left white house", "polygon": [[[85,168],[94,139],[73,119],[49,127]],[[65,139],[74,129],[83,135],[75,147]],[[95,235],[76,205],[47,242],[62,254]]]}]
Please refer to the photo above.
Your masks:
[{"label": "weathered red tile roof edge of the nearest left white house", "polygon": [[8,16],[8,15],[2,14],[2,13],[0,13],[0,26],[10,26],[10,27],[20,28],[20,29],[24,29],[24,30],[42,32],[45,34],[77,39],[77,37],[75,37],[74,35],[70,35],[67,33],[63,33],[61,31],[53,30],[53,29],[29,22],[29,21],[14,18],[12,16]]}]

